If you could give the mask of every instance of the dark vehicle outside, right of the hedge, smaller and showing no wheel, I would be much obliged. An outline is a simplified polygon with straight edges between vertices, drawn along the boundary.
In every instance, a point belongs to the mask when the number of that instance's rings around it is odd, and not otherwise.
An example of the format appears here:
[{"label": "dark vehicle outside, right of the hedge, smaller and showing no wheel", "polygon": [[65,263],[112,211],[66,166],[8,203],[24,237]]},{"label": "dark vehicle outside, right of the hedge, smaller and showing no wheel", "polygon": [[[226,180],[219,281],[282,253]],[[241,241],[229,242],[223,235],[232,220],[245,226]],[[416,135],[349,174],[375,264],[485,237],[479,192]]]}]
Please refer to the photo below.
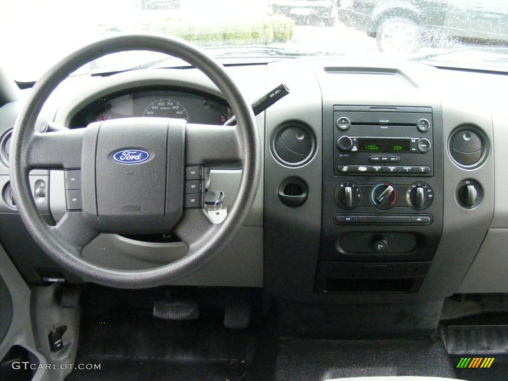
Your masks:
[{"label": "dark vehicle outside, right of the hedge, smaller and showing no wheel", "polygon": [[270,12],[291,17],[300,24],[335,25],[337,6],[332,0],[272,0]]}]

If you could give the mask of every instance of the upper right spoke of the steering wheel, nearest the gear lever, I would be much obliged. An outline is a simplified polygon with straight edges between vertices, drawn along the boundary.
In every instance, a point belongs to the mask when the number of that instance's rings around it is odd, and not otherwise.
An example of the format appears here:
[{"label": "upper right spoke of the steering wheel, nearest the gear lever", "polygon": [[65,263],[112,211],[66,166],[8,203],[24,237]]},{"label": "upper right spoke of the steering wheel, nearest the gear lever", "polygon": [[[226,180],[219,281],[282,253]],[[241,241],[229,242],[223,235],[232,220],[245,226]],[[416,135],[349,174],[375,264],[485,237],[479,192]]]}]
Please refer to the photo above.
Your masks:
[{"label": "upper right spoke of the steering wheel, nearest the gear lever", "polygon": [[237,126],[187,123],[185,163],[195,165],[238,165],[242,152]]}]

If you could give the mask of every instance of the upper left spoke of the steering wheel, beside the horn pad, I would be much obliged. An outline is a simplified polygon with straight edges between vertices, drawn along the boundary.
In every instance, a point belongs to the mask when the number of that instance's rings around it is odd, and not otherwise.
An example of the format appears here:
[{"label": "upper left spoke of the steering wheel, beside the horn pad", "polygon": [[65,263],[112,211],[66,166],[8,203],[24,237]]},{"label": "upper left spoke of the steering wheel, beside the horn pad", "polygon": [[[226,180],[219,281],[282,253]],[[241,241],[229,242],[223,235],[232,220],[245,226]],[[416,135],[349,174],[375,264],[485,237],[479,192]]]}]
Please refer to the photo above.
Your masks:
[{"label": "upper left spoke of the steering wheel, beside the horn pad", "polygon": [[33,168],[80,168],[85,129],[36,133],[29,140],[26,161]]}]

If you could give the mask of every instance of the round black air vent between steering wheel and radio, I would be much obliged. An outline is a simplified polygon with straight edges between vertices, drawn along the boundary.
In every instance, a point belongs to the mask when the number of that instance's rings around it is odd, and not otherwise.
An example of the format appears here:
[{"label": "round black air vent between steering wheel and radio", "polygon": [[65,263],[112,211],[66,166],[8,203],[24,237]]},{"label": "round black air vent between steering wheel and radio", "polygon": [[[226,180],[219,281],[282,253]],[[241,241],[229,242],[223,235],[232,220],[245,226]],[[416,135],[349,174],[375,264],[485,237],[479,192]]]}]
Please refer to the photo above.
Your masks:
[{"label": "round black air vent between steering wheel and radio", "polygon": [[310,128],[301,122],[280,125],[272,136],[272,151],[279,162],[298,167],[312,157],[315,138]]}]

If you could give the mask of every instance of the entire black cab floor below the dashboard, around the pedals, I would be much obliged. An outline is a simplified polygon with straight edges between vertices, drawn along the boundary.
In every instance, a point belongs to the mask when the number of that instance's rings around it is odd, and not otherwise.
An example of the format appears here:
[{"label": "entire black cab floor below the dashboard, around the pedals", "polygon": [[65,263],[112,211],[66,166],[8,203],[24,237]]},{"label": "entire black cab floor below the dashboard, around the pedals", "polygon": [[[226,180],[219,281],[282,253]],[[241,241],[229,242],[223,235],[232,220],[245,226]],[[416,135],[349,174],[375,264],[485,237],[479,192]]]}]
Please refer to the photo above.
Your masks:
[{"label": "entire black cab floor below the dashboard, around the pedals", "polygon": [[230,293],[200,301],[205,307],[198,320],[168,321],[151,313],[153,300],[165,297],[164,293],[100,288],[84,292],[76,363],[101,364],[101,369],[75,369],[66,381],[316,381],[455,375],[437,336],[396,340],[281,337],[269,320],[259,317],[263,315],[259,310],[253,313],[249,328],[227,329],[220,304]]}]

